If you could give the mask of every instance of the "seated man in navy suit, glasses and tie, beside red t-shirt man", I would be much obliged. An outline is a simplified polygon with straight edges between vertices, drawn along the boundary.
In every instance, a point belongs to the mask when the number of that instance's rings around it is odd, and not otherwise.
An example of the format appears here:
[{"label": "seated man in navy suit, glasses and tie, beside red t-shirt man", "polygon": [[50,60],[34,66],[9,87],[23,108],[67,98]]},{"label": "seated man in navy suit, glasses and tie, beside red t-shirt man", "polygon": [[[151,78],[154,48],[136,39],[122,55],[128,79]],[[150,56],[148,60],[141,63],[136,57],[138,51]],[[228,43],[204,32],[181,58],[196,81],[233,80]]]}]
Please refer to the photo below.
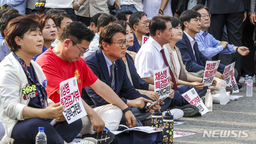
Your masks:
[{"label": "seated man in navy suit, glasses and tie, beside red t-shirt man", "polygon": [[[146,109],[144,107],[148,102],[152,102],[148,96],[135,90],[128,78],[126,65],[121,59],[126,54],[127,41],[125,34],[126,31],[119,24],[110,24],[103,28],[99,39],[100,50],[87,56],[85,62],[102,82],[110,86],[119,95],[124,103],[133,107],[132,112],[137,119],[136,126],[142,126],[138,120],[145,120],[151,115],[150,112],[145,112]],[[111,72],[113,63],[114,70]],[[112,82],[111,73],[113,73]],[[91,87],[85,87],[85,90],[96,106],[109,104],[107,100],[102,99],[100,95],[95,93]],[[161,109],[159,105],[154,106],[154,108]]]}]

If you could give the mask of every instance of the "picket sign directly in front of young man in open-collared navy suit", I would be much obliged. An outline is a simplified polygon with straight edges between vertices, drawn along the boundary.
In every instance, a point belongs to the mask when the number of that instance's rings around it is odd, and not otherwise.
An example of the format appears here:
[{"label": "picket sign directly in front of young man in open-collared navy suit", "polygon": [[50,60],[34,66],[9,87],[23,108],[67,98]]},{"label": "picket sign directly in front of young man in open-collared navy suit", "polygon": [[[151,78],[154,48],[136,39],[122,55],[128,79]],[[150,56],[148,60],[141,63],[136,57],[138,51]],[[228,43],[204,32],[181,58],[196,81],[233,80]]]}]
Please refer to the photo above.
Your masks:
[{"label": "picket sign directly in front of young man in open-collared navy suit", "polygon": [[206,61],[206,67],[204,69],[204,76],[203,76],[204,86],[208,86],[208,85],[212,84],[215,74],[217,72],[218,66],[219,66],[219,62],[220,62],[220,60]]}]

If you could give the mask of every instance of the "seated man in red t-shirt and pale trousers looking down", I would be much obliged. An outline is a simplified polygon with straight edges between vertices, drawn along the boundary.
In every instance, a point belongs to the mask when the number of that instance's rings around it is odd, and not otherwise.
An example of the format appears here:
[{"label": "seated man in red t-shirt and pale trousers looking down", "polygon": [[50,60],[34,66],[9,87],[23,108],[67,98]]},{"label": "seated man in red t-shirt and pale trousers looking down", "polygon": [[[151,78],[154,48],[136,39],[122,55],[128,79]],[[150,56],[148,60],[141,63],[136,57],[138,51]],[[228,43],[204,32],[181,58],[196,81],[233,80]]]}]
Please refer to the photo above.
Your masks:
[{"label": "seated man in red t-shirt and pale trousers looking down", "polygon": [[[122,118],[122,110],[125,112],[127,126],[134,127],[135,117],[129,107],[107,84],[95,76],[81,58],[88,50],[93,37],[94,34],[83,23],[72,22],[64,28],[58,45],[37,57],[36,62],[42,67],[47,77],[47,94],[51,100],[58,103],[60,82],[76,76],[80,94],[82,88],[90,86],[98,95],[111,103],[92,109],[82,99],[87,116],[81,118],[83,124],[81,134],[98,133],[105,127],[110,131],[116,131]],[[65,118],[59,117],[58,121],[65,121]],[[102,133],[96,135],[99,134]]]}]

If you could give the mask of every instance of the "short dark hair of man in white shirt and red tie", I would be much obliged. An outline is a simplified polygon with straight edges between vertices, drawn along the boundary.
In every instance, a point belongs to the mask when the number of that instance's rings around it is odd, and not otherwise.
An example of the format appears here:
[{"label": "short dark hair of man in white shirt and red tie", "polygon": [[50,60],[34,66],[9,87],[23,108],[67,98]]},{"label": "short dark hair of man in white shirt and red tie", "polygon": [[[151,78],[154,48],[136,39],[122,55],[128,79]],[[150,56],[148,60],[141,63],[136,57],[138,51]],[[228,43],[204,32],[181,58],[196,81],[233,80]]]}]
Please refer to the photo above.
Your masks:
[{"label": "short dark hair of man in white shirt and red tie", "polygon": [[172,18],[169,15],[154,16],[149,23],[149,35],[154,37],[156,31],[163,33],[167,28],[166,22],[172,22]]}]

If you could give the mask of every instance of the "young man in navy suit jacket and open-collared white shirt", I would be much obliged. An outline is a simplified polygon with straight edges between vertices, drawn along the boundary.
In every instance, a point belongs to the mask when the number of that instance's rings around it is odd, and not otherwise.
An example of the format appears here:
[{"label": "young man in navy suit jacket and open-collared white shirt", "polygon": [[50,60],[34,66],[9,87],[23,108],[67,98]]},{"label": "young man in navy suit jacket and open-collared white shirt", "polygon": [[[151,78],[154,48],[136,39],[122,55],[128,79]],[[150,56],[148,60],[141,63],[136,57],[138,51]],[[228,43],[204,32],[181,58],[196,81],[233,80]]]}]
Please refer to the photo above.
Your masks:
[{"label": "young man in navy suit jacket and open-collared white shirt", "polygon": [[[196,33],[200,32],[200,18],[201,14],[193,10],[186,10],[180,16],[180,20],[183,23],[183,35],[182,40],[178,40],[175,45],[181,52],[182,61],[188,72],[198,72],[204,70],[206,66],[207,57],[199,51],[194,38]],[[220,63],[215,77],[223,79],[224,68],[225,65]]]}]

